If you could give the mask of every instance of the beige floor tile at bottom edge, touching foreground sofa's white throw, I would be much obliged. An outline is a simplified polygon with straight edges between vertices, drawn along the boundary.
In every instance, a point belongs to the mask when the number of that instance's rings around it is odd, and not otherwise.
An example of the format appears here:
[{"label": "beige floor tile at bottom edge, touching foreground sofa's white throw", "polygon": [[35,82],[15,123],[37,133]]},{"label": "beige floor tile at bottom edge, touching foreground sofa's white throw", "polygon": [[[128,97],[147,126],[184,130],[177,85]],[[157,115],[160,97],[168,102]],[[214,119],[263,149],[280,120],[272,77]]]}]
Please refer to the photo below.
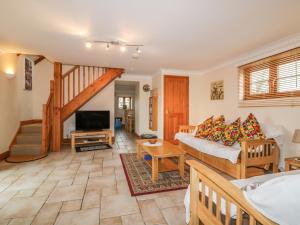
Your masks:
[{"label": "beige floor tile at bottom edge, touching foreground sofa's white throw", "polygon": [[168,225],[186,225],[184,207],[173,207],[162,210]]}]

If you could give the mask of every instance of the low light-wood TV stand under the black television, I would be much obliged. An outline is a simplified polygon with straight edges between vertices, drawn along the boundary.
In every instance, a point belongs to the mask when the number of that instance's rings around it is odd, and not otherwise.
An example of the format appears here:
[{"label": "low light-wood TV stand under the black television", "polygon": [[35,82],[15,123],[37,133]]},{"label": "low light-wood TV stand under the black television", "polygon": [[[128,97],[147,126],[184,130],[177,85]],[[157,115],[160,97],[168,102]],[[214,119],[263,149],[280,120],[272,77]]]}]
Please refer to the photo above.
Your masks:
[{"label": "low light-wood TV stand under the black television", "polygon": [[[98,139],[88,141],[88,139]],[[112,144],[112,131],[74,131],[71,133],[71,148],[75,152],[75,147],[78,145],[95,144],[95,143],[107,143]]]}]

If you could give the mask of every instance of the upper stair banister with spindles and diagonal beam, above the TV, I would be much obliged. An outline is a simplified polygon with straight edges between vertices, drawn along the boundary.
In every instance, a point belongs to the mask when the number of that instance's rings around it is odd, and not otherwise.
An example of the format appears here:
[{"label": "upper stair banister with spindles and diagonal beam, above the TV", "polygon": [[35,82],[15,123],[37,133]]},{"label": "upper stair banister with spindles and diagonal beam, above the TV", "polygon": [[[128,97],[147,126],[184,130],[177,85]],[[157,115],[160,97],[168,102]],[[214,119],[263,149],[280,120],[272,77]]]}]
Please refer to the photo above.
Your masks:
[{"label": "upper stair banister with spindles and diagonal beam, above the TV", "polygon": [[[74,75],[76,71],[77,78],[74,79],[74,77],[76,77]],[[64,74],[62,76],[62,121],[70,117],[77,109],[88,102],[92,97],[99,93],[113,80],[115,80],[117,77],[120,77],[123,72],[124,69],[119,68],[80,66],[74,67],[68,73]],[[82,74],[82,79],[79,78],[81,77],[80,74]],[[65,79],[67,79],[68,82],[65,82]],[[70,81],[70,79],[72,79],[72,82]],[[85,82],[86,79],[87,82]],[[82,84],[80,83],[81,80],[83,81]],[[83,86],[84,83],[87,84],[86,87]],[[70,87],[70,85],[72,86]],[[75,88],[77,90],[75,90]]]}]

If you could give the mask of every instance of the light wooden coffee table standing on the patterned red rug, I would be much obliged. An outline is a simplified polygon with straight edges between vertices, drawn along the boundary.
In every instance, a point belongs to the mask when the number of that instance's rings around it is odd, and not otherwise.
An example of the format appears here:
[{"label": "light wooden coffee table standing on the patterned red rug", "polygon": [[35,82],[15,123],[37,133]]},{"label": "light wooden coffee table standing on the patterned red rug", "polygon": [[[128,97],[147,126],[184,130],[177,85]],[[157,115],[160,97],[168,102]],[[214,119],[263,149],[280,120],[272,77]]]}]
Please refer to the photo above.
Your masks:
[{"label": "light wooden coffee table standing on the patterned red rug", "polygon": [[[185,151],[163,140],[158,140],[158,142],[162,143],[161,146],[145,146],[144,143],[148,141],[146,139],[136,141],[137,158],[144,160],[144,153],[151,155],[152,160],[145,161],[152,168],[152,182],[155,183],[157,181],[159,172],[179,170],[180,176],[184,177]],[[170,159],[171,157],[177,157],[178,164],[174,163]]]}]

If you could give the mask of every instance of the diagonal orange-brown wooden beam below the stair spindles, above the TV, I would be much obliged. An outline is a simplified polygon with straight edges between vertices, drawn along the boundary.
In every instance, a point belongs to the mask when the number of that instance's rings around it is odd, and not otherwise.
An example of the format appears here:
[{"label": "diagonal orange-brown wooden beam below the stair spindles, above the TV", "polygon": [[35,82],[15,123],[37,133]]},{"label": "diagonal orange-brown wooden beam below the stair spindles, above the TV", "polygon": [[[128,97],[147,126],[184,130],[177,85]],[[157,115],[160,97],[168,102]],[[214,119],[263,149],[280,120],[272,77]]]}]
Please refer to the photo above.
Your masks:
[{"label": "diagonal orange-brown wooden beam below the stair spindles, above the TV", "polygon": [[77,109],[88,102],[92,97],[94,97],[117,77],[119,77],[123,72],[123,69],[107,69],[103,76],[101,76],[98,80],[92,83],[63,107],[62,121],[65,121],[67,118],[69,118]]}]

